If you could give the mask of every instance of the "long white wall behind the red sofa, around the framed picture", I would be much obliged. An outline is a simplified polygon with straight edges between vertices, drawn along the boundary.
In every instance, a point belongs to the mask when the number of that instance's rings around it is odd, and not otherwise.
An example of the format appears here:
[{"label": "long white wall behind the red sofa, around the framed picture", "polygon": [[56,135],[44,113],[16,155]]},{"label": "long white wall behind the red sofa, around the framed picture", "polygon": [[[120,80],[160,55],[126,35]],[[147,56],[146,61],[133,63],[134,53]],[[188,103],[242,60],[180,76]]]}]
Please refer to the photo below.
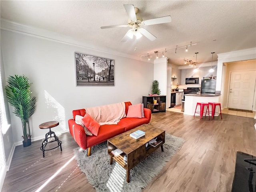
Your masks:
[{"label": "long white wall behind the red sofa, around the framed picture", "polygon": [[[137,104],[150,93],[154,71],[150,63],[7,30],[1,30],[1,46],[6,78],[24,74],[33,82],[37,103],[31,118],[32,140],[44,137],[46,130],[38,125],[47,121],[60,122],[54,132],[67,132],[72,110],[125,101]],[[74,52],[114,59],[115,86],[76,86]],[[12,111],[10,107],[13,139],[21,144],[21,121]]]}]

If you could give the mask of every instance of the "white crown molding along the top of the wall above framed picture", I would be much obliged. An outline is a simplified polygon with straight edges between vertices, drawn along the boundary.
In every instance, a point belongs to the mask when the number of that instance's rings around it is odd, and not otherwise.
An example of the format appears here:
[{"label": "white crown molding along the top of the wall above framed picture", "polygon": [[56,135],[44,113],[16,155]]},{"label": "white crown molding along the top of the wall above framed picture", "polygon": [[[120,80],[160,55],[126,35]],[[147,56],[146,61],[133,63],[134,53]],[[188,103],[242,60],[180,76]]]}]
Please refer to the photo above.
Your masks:
[{"label": "white crown molding along the top of the wall above framed picture", "polygon": [[126,57],[130,59],[146,62],[142,60],[140,57],[124,54],[122,52],[118,52],[108,47],[99,46],[96,44],[92,44],[91,42],[74,39],[71,36],[66,36],[63,34],[51,32],[41,28],[31,27],[31,26],[20,24],[20,23],[12,22],[10,20],[6,20],[3,18],[1,18],[0,24],[1,24],[0,25],[1,30],[16,32],[16,33],[20,33],[28,36],[33,36],[36,38],[46,39],[54,42],[60,42],[60,43],[69,44],[73,46],[79,46],[82,48],[86,48],[86,49],[90,49],[98,52],[103,52],[107,54],[112,54],[116,56],[121,56],[121,57]]}]

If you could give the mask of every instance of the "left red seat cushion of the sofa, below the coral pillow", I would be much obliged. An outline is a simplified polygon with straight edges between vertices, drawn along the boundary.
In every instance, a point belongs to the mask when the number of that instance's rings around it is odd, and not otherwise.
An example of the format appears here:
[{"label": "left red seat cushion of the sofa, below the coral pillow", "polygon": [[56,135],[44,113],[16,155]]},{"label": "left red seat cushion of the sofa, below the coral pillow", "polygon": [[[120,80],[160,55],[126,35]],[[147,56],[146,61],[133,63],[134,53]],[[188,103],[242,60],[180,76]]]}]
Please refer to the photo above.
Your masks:
[{"label": "left red seat cushion of the sofa, below the coral pillow", "polygon": [[91,147],[101,142],[104,142],[114,136],[124,132],[124,127],[120,125],[101,125],[98,136],[87,136],[87,146]]}]

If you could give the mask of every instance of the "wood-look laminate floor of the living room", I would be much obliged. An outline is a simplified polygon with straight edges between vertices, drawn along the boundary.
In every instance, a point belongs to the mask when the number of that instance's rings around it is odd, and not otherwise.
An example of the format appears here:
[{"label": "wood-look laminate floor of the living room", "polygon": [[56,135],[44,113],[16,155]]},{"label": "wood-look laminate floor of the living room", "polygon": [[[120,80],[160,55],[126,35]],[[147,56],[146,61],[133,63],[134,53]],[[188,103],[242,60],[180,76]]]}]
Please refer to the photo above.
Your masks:
[{"label": "wood-look laminate floor of the living room", "polygon": [[[230,192],[236,151],[256,156],[256,120],[222,116],[222,120],[220,116],[200,120],[198,116],[170,111],[152,114],[152,125],[184,138],[185,142],[143,192]],[[58,170],[42,192],[95,192],[72,159],[73,149],[78,147],[74,139],[69,133],[59,139],[62,152],[59,148],[47,151],[45,158],[40,150],[41,141],[26,148],[17,146],[2,192],[36,191]]]}]

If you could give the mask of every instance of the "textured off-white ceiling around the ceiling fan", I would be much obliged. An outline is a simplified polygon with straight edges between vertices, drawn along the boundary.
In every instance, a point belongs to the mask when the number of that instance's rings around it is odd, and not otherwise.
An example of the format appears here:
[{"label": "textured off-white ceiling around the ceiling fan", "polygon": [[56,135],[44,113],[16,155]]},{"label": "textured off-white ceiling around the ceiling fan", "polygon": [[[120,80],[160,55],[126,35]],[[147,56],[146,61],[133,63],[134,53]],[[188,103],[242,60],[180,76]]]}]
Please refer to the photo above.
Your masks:
[{"label": "textured off-white ceiling around the ceiling fan", "polygon": [[[133,4],[143,20],[172,16],[172,22],[144,26],[157,37],[121,42],[130,29],[101,26],[127,24],[123,4]],[[3,1],[1,18],[57,32],[78,40],[109,47],[148,61],[154,51],[167,49],[169,63],[184,65],[183,59],[211,62],[212,54],[256,47],[256,1]],[[194,46],[180,48],[189,45]],[[178,50],[175,54],[175,48]],[[214,54],[214,61],[217,55]],[[151,60],[151,61],[152,61]]]}]

